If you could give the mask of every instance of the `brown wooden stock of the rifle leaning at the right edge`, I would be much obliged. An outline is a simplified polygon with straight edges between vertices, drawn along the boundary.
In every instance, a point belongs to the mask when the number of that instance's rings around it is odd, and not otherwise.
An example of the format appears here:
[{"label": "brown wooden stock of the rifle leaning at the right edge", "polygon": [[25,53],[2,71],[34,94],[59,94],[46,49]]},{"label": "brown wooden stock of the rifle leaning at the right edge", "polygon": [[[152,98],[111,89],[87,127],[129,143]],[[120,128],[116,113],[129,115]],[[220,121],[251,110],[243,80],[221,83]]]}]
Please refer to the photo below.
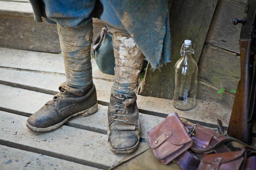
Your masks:
[{"label": "brown wooden stock of the rifle leaning at the right edge", "polygon": [[252,122],[248,118],[251,115],[249,103],[254,65],[251,45],[252,39],[240,40],[241,78],[237,85],[237,93],[227,131],[228,135],[247,144],[250,144],[252,140]]}]

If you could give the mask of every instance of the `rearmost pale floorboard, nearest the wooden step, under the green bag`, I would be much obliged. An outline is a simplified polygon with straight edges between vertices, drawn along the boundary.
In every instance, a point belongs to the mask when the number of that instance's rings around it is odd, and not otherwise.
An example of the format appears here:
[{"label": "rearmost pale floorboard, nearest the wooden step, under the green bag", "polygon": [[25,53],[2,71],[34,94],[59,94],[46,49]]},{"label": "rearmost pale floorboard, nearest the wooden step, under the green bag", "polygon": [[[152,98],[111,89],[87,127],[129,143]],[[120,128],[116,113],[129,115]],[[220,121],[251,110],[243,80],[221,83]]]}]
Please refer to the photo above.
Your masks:
[{"label": "rearmost pale floorboard, nearest the wooden step, under the green bag", "polygon": [[[0,67],[65,74],[64,61],[61,54],[8,48],[0,48],[0,51]],[[91,59],[91,62],[92,76],[94,78],[113,81],[114,76],[102,73],[94,58]]]}]

